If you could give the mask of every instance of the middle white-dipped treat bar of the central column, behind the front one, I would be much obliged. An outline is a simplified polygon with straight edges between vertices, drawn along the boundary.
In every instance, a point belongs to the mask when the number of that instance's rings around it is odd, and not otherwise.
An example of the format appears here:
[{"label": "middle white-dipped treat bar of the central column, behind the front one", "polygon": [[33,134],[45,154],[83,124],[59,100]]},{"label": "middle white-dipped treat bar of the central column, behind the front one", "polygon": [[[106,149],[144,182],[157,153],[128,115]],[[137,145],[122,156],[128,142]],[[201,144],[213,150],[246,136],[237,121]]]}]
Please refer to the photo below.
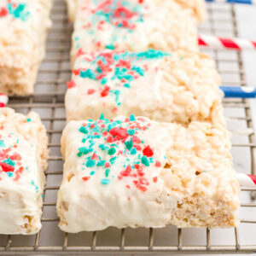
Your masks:
[{"label": "middle white-dipped treat bar of the central column, behind the front one", "polygon": [[80,55],[67,83],[67,120],[131,113],[159,121],[224,123],[215,63],[207,55],[104,51]]}]

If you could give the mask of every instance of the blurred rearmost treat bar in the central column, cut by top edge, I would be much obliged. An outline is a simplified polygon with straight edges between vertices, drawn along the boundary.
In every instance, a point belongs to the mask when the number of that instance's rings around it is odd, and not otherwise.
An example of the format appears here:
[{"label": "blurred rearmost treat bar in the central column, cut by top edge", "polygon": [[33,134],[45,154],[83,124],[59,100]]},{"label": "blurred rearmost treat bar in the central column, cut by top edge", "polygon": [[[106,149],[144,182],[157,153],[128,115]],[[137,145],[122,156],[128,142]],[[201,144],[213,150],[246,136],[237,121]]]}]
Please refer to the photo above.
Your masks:
[{"label": "blurred rearmost treat bar in the central column, cut by top edge", "polygon": [[78,0],[77,4],[72,62],[84,50],[198,50],[194,11],[175,1]]}]

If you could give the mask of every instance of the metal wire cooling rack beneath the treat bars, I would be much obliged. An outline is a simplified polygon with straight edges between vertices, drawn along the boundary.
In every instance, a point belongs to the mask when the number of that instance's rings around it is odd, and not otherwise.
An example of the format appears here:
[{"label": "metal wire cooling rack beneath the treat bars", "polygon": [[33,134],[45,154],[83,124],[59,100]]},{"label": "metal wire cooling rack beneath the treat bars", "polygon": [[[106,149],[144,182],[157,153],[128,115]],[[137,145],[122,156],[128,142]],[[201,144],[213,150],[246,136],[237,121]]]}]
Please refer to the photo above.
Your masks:
[{"label": "metal wire cooling rack beneath the treat bars", "polygon": [[[234,6],[211,3],[207,9],[209,21],[201,26],[202,33],[238,36]],[[182,230],[169,226],[154,230],[110,228],[79,234],[67,234],[59,230],[55,201],[62,178],[60,138],[65,125],[64,93],[66,81],[70,79],[69,49],[72,33],[63,1],[55,0],[52,20],[47,54],[40,67],[34,95],[15,96],[9,102],[9,107],[21,113],[31,110],[40,113],[48,129],[50,156],[44,190],[43,228],[36,236],[0,236],[0,254],[255,253],[256,203],[252,193],[256,193],[256,189],[243,189],[241,192],[241,224],[237,229]],[[223,84],[246,85],[241,53],[207,49],[207,54],[217,61]],[[233,131],[232,154],[236,170],[255,174],[255,140],[250,104],[240,99],[225,100],[224,107],[228,126]]]}]

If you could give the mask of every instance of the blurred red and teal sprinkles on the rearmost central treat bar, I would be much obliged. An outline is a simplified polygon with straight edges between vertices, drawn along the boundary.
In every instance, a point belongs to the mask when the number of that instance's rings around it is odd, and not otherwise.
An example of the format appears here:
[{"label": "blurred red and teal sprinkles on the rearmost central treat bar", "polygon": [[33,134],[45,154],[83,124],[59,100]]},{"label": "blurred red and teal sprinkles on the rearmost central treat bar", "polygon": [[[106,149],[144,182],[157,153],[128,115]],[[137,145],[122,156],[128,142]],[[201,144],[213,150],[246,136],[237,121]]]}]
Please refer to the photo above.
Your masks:
[{"label": "blurred red and teal sprinkles on the rearmost central treat bar", "polygon": [[[131,3],[130,0],[94,0],[93,2],[95,8],[90,9],[90,21],[84,24],[83,29],[94,37],[93,43],[98,48],[102,48],[102,43],[97,38],[96,31],[106,31],[106,23],[113,26],[113,35],[109,44],[103,45],[103,47],[116,49],[119,29],[125,29],[131,33],[136,29],[137,23],[143,22],[143,0],[137,0],[137,3]],[[84,9],[87,10],[88,7],[84,7]],[[79,38],[76,40],[79,41]],[[79,42],[77,48],[79,48]]]}]

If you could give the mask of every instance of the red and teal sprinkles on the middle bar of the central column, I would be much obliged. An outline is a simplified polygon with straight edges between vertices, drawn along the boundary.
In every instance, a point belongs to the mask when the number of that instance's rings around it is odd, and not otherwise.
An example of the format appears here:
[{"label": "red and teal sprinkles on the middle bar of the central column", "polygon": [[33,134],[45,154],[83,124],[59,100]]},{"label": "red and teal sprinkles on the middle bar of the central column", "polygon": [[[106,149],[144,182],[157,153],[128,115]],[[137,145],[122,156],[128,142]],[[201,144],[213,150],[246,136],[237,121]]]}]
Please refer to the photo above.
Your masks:
[{"label": "red and teal sprinkles on the middle bar of the central column", "polygon": [[[97,88],[89,88],[87,94],[99,93],[100,96],[113,96],[117,106],[121,105],[121,89],[131,88],[132,81],[143,77],[148,71],[146,61],[161,59],[166,53],[160,50],[148,49],[141,53],[127,51],[107,51],[98,55],[86,55],[84,63],[86,67],[73,70],[74,77],[92,79],[99,82]],[[76,86],[74,80],[67,83],[68,88]],[[114,109],[113,109],[114,111]]]}]

